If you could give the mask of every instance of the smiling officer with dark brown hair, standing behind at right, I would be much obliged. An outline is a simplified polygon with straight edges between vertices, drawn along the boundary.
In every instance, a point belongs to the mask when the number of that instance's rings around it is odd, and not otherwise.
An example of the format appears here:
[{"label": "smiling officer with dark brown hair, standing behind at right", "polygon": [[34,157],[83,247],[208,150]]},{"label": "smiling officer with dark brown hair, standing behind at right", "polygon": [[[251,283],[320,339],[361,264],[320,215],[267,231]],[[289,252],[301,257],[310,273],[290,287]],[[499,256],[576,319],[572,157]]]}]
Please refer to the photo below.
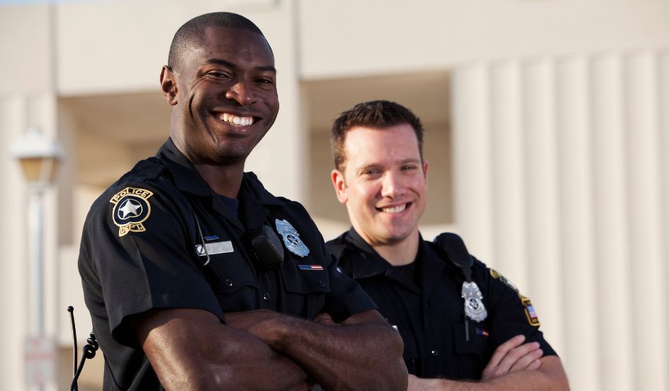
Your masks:
[{"label": "smiling officer with dark brown hair, standing behind at right", "polygon": [[440,236],[442,248],[420,236],[422,137],[420,120],[389,101],[345,111],[331,137],[332,183],[353,227],[327,246],[400,331],[409,389],[568,389],[529,299],[459,237]]}]

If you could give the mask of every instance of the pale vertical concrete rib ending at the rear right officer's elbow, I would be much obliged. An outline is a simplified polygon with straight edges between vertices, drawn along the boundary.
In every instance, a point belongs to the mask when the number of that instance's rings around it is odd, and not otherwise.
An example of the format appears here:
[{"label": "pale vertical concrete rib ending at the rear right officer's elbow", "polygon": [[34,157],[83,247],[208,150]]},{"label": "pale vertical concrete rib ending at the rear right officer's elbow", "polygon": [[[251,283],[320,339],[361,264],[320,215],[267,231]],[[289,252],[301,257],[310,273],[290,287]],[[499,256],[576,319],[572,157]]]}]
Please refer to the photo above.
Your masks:
[{"label": "pale vertical concrete rib ending at the rear right officer's elbow", "polygon": [[553,60],[524,65],[523,121],[525,208],[527,217],[528,294],[539,313],[541,329],[562,354],[563,268],[560,247],[556,151],[556,80]]}]

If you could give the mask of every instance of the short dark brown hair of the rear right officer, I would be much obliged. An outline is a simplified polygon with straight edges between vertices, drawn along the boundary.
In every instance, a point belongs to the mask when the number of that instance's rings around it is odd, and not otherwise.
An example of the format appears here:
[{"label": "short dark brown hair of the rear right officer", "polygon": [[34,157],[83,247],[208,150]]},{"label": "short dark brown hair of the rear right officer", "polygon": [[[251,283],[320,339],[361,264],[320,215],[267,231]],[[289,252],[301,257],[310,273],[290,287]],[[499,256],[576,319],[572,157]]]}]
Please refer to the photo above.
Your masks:
[{"label": "short dark brown hair of the rear right officer", "polygon": [[332,157],[334,157],[334,168],[342,171],[346,154],[344,154],[344,142],[346,133],[358,126],[375,129],[386,129],[396,125],[408,124],[413,128],[418,140],[418,151],[420,160],[423,159],[423,125],[412,111],[399,103],[391,101],[369,101],[358,103],[350,110],[339,114],[339,118],[332,124],[330,132],[330,146]]}]

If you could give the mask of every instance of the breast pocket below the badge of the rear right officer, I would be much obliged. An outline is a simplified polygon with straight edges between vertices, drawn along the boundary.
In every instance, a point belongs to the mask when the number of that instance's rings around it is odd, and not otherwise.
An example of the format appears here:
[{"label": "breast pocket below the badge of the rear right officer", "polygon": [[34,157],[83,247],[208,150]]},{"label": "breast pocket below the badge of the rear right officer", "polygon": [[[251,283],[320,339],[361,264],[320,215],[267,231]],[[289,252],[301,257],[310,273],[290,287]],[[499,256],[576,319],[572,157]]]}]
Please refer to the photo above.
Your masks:
[{"label": "breast pocket below the badge of the rear right officer", "polygon": [[458,373],[462,379],[480,379],[480,374],[488,362],[488,331],[485,324],[467,322],[454,324],[453,339],[458,356]]}]

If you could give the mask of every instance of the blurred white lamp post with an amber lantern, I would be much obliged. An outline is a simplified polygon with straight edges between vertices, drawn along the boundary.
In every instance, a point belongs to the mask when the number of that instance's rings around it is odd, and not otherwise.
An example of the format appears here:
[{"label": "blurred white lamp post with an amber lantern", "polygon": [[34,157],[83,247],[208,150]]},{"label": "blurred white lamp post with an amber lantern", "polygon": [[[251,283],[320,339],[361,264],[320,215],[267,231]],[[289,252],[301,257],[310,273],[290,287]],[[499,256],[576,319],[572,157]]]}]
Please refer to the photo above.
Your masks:
[{"label": "blurred white lamp post with an amber lantern", "polygon": [[26,378],[41,390],[53,378],[55,354],[46,339],[44,322],[44,201],[63,152],[38,128],[29,128],[11,146],[28,183],[28,338]]}]

